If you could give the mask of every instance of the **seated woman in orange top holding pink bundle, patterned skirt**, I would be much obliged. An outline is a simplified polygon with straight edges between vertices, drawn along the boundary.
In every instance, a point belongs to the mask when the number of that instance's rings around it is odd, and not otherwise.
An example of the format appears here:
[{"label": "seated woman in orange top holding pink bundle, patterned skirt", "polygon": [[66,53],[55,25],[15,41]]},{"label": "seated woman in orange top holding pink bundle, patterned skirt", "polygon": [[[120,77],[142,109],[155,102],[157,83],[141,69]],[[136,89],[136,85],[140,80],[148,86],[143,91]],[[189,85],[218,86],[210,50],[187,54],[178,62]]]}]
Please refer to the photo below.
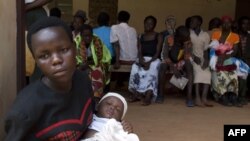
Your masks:
[{"label": "seated woman in orange top holding pink bundle, patterned skirt", "polygon": [[[212,90],[215,100],[221,100],[223,105],[240,106],[237,102],[238,95],[238,76],[237,66],[233,63],[233,57],[237,53],[239,35],[231,31],[232,19],[228,16],[222,17],[222,29],[212,33],[211,39],[217,40],[220,50],[215,51],[217,61],[216,71],[212,72]],[[212,49],[213,51],[213,49]],[[210,60],[210,65],[211,61]]]}]

